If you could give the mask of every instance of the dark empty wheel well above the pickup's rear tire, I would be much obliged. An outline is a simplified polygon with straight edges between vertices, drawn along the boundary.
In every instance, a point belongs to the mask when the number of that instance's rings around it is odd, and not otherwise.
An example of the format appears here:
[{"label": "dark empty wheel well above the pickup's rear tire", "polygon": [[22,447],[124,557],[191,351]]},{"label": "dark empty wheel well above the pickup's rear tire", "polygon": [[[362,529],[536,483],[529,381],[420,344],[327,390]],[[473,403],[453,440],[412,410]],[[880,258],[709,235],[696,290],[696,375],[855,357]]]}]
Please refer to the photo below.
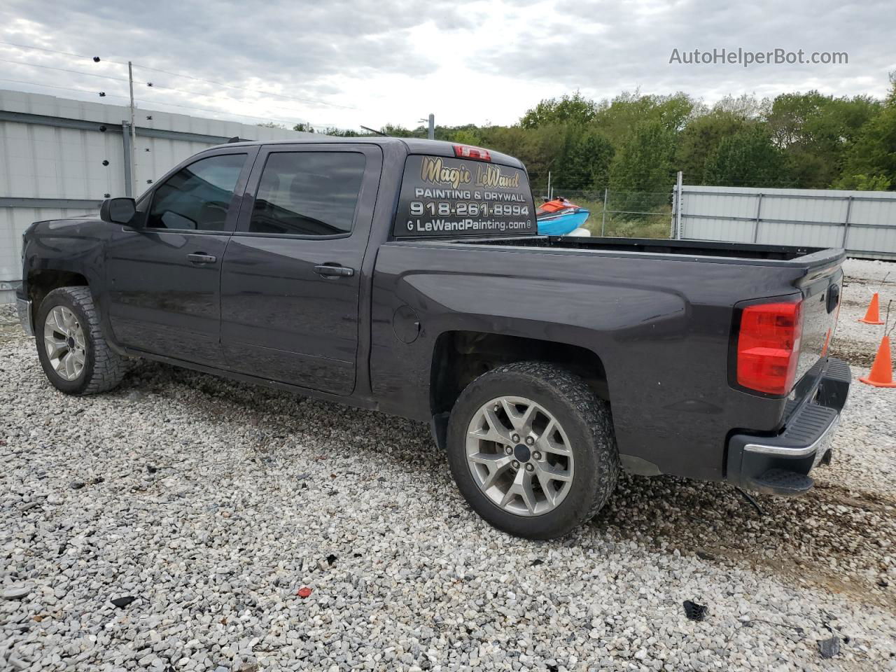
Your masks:
[{"label": "dark empty wheel well above the pickup's rear tire", "polygon": [[590,349],[550,340],[483,332],[444,332],[435,341],[430,376],[433,415],[446,413],[463,389],[491,369],[525,360],[552,362],[580,376],[599,396],[609,400],[607,372]]}]

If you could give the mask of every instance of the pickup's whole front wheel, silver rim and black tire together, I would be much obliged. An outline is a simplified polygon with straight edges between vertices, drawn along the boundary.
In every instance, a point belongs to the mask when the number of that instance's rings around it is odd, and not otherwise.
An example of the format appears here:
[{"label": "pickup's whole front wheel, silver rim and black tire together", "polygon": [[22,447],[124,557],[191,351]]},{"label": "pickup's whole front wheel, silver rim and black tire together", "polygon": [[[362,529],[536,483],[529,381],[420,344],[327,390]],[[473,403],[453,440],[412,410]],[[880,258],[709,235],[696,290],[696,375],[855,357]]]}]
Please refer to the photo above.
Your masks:
[{"label": "pickup's whole front wheel, silver rim and black tire together", "polygon": [[[50,317],[50,326],[47,325],[47,317],[54,311],[63,331],[56,331],[52,326],[56,324],[55,317]],[[64,321],[67,323],[62,324]],[[128,360],[109,349],[87,287],[63,287],[47,294],[40,303],[34,332],[40,366],[47,380],[60,392],[77,395],[107,392],[125,376]],[[73,334],[71,337],[69,332]],[[53,341],[58,341],[61,348],[68,347],[67,341],[77,355],[77,361],[67,371],[60,365],[61,358],[52,356]]]}]

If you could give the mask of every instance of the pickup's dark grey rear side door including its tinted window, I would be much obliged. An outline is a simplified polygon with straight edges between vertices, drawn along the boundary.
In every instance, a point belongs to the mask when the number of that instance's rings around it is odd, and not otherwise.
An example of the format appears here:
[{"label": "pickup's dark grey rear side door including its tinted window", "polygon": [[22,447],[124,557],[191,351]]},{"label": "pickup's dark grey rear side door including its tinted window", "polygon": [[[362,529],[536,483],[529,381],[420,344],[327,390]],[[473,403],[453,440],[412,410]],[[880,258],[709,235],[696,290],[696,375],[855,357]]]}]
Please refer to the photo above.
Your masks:
[{"label": "pickup's dark grey rear side door including its tinted window", "polygon": [[229,368],[354,390],[361,262],[382,166],[375,145],[262,149],[221,272]]}]

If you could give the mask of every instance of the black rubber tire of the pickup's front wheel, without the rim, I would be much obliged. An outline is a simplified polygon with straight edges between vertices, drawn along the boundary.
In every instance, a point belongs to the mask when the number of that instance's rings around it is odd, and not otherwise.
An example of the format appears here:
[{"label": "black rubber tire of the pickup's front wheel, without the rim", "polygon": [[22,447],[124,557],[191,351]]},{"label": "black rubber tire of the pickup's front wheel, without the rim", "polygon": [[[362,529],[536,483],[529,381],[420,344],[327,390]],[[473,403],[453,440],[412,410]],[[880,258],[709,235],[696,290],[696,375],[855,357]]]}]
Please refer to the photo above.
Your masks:
[{"label": "black rubber tire of the pickup's front wheel, without the rim", "polygon": [[[44,346],[44,323],[47,314],[56,306],[65,306],[71,310],[81,324],[84,334],[84,367],[74,380],[65,380],[56,373]],[[47,380],[60,392],[75,395],[108,392],[121,383],[121,379],[125,376],[128,360],[109,349],[99,328],[99,312],[87,287],[62,287],[47,294],[40,302],[34,335],[40,366],[43,367]]]}]

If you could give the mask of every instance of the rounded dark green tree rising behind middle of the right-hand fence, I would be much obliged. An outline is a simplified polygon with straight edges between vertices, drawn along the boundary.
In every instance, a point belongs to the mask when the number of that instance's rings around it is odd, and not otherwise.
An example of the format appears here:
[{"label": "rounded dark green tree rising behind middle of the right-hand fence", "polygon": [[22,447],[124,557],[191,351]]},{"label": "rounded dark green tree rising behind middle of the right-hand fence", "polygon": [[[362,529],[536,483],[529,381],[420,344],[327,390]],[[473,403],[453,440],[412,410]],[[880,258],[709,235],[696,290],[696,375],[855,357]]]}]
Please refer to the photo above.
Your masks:
[{"label": "rounded dark green tree rising behind middle of the right-hand fence", "polygon": [[779,186],[785,177],[783,152],[761,126],[751,126],[719,142],[706,160],[707,185]]}]

